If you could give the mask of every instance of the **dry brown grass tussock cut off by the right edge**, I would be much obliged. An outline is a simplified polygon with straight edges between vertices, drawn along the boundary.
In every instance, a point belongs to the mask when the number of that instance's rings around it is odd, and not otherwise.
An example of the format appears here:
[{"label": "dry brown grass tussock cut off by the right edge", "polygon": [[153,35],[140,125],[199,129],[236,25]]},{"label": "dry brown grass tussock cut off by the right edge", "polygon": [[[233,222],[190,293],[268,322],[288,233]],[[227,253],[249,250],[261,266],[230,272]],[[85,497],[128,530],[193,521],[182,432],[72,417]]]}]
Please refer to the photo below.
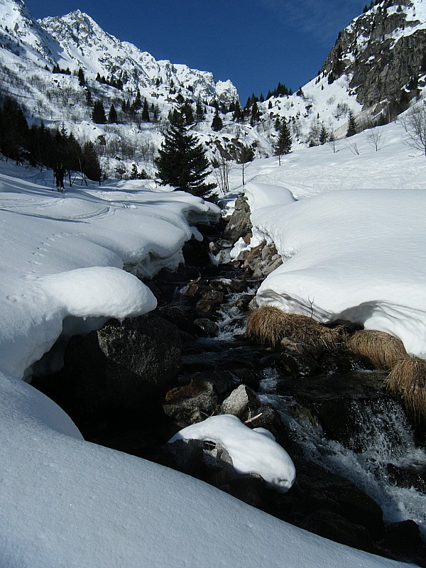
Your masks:
[{"label": "dry brown grass tussock cut off by the right edge", "polygon": [[414,420],[426,420],[426,361],[405,357],[393,367],[386,387],[396,398],[403,400]]}]

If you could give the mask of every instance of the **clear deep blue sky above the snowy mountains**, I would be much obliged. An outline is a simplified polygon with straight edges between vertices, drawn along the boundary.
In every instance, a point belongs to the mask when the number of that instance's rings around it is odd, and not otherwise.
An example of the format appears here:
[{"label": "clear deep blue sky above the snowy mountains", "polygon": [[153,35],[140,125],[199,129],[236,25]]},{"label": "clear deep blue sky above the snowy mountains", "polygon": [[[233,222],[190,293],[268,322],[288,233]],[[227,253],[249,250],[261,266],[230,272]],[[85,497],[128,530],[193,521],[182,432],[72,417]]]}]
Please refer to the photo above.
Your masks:
[{"label": "clear deep blue sky above the snowy mountains", "polygon": [[[24,0],[25,1],[25,0]],[[241,103],[278,81],[298,89],[317,75],[337,34],[365,0],[27,0],[35,18],[80,9],[155,59],[230,79]],[[369,2],[367,2],[369,4]]]}]

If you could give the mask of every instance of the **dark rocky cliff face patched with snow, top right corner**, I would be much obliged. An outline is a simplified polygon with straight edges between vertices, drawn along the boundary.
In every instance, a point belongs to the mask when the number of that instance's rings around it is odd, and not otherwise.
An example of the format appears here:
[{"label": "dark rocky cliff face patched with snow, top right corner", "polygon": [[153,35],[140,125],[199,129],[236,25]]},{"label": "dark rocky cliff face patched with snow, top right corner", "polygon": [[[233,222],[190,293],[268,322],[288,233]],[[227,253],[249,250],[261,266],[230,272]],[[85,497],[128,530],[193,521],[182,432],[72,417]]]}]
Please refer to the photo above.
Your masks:
[{"label": "dark rocky cliff face patched with snow, top right corner", "polygon": [[426,85],[426,5],[381,0],[339,33],[321,73],[329,83],[346,74],[364,107],[403,111]]}]

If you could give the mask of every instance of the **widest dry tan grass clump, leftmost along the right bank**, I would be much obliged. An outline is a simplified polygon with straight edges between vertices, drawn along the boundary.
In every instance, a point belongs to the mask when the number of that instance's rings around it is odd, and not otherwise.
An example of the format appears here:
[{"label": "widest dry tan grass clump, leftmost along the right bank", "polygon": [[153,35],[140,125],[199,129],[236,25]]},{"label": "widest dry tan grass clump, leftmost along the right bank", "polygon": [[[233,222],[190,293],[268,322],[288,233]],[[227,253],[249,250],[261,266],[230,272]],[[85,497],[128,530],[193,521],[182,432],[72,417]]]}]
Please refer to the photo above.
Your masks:
[{"label": "widest dry tan grass clump, leftmost along the right bank", "polygon": [[274,306],[261,306],[246,322],[247,335],[263,344],[277,346],[284,337],[307,345],[334,349],[339,332],[300,314],[288,314]]}]

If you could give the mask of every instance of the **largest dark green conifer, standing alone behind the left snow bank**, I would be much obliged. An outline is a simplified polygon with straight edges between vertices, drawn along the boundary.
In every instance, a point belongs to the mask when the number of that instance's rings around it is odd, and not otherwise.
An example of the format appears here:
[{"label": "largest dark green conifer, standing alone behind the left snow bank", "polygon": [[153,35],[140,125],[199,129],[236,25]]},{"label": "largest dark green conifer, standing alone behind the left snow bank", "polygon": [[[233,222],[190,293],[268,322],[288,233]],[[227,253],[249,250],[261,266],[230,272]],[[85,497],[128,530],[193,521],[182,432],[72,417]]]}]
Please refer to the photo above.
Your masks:
[{"label": "largest dark green conifer, standing alone behind the left snow bank", "polygon": [[209,175],[209,160],[197,137],[188,132],[180,114],[170,124],[155,158],[161,185],[172,185],[198,197],[207,197],[215,184],[204,182]]}]

